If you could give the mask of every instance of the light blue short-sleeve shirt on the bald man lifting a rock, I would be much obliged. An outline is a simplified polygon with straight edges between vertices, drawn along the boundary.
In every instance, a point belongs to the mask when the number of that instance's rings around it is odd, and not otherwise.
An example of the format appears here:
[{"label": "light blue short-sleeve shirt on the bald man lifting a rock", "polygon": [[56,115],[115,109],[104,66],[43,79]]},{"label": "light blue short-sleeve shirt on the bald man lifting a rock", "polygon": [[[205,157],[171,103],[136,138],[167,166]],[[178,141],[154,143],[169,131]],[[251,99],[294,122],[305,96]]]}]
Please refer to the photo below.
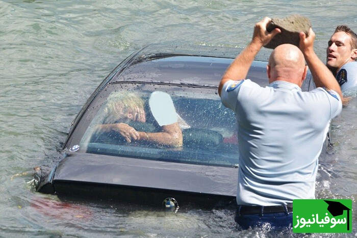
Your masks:
[{"label": "light blue short-sleeve shirt on the bald man lifting a rock", "polygon": [[260,87],[228,81],[221,100],[236,114],[239,142],[237,203],[277,205],[314,199],[318,156],[330,119],[342,110],[335,91],[275,81]]}]

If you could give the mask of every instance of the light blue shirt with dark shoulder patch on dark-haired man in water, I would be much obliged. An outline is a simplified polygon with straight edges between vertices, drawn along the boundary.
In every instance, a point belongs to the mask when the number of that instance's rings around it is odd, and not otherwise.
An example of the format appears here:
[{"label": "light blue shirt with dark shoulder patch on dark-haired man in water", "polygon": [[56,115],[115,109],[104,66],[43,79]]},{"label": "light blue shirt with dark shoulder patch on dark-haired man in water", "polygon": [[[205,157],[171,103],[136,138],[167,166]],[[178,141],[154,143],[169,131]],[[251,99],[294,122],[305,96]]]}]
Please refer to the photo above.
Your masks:
[{"label": "light blue shirt with dark shoulder patch on dark-haired man in water", "polygon": [[336,75],[341,91],[357,89],[357,62],[352,61],[342,66]]}]

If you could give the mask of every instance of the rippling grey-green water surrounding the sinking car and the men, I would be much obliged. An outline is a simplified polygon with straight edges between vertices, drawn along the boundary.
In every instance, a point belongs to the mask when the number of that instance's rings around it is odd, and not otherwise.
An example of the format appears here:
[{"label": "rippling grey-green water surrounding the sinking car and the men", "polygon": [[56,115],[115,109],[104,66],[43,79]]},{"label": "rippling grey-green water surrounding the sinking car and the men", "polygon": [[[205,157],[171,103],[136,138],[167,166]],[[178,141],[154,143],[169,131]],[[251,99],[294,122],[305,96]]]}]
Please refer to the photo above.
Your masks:
[{"label": "rippling grey-green water surrounding the sinking car and the men", "polygon": [[[230,209],[187,207],[172,214],[115,201],[60,202],[30,186],[32,168],[55,160],[86,99],[132,52],[151,43],[227,46],[238,52],[250,41],[254,23],[292,13],[310,18],[323,61],[337,24],[357,31],[353,0],[0,1],[0,236],[292,235],[241,231]],[[354,210],[356,105],[354,98],[333,121],[335,153],[322,156],[317,182],[318,198],[352,199]],[[356,221],[353,213],[351,236]]]}]

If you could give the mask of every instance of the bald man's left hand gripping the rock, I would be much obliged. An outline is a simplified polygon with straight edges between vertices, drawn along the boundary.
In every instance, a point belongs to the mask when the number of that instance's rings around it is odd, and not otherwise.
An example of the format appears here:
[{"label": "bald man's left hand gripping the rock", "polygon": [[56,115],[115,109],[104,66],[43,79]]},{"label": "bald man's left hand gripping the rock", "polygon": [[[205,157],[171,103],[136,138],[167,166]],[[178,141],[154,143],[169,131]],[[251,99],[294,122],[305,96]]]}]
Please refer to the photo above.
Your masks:
[{"label": "bald man's left hand gripping the rock", "polygon": [[263,20],[256,23],[254,27],[253,38],[251,40],[252,43],[258,43],[261,46],[264,46],[274,38],[276,34],[281,33],[282,31],[278,28],[275,28],[271,32],[267,31],[267,25],[270,23],[271,18],[264,17]]}]

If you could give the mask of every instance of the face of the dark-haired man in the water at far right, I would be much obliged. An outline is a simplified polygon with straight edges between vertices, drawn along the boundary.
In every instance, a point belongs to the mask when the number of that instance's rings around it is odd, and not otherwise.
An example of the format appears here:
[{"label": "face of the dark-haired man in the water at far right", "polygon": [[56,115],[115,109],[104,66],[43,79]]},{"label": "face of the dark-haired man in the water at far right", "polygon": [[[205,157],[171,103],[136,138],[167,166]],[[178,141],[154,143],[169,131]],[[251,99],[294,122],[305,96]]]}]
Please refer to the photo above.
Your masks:
[{"label": "face of the dark-haired man in the water at far right", "polygon": [[344,64],[352,62],[351,37],[345,32],[336,32],[328,41],[326,53],[326,66],[332,71],[336,72]]}]

